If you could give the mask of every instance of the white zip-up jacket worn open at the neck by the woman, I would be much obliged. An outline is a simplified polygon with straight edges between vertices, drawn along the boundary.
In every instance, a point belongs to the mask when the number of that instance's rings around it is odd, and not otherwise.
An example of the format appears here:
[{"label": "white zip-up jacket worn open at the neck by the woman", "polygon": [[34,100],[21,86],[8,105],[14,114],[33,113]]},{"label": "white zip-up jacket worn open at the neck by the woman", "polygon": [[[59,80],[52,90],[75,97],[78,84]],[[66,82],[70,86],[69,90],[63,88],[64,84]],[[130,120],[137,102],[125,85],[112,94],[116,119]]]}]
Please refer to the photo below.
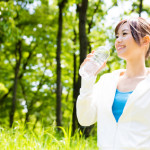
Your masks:
[{"label": "white zip-up jacket worn open at the neck by the woman", "polygon": [[77,99],[77,118],[82,126],[97,121],[98,147],[102,150],[150,150],[150,75],[129,96],[116,123],[112,104],[122,70],[82,79]]}]

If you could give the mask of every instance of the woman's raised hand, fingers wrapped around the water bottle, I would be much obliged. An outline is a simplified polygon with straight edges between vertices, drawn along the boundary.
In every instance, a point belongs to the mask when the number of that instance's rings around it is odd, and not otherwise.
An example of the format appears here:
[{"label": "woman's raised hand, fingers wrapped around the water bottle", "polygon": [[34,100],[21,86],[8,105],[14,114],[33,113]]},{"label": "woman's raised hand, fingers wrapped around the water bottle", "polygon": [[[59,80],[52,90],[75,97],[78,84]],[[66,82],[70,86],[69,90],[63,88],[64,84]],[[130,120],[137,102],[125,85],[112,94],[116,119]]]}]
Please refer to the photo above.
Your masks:
[{"label": "woman's raised hand, fingers wrapped around the water bottle", "polygon": [[[84,66],[87,61],[90,61],[91,57],[93,57],[93,55],[94,55],[94,52],[95,52],[95,51],[92,50],[92,52],[89,53],[89,54],[86,56],[86,58],[84,59],[83,63],[81,64],[80,68],[81,68],[82,66]],[[97,75],[103,68],[105,68],[106,62],[107,62],[107,60],[106,60],[106,61],[104,62],[104,64],[98,69],[98,71],[95,73],[95,75]]]}]

